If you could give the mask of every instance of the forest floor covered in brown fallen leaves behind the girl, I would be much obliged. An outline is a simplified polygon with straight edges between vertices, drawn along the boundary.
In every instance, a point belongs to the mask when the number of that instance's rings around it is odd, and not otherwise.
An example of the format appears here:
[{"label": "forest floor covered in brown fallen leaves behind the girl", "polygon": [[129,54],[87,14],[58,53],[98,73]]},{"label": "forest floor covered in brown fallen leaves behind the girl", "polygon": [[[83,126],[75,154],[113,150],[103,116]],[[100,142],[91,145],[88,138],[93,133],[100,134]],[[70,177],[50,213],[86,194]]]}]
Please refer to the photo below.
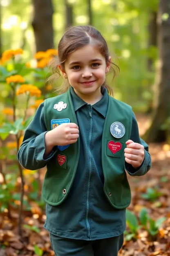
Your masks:
[{"label": "forest floor covered in brown fallen leaves behind the girl", "polygon": [[[142,135],[148,127],[148,117],[137,116],[139,131]],[[130,177],[132,202],[128,207],[137,217],[143,207],[147,208],[153,220],[166,217],[165,222],[155,237],[142,227],[136,239],[124,241],[119,256],[170,256],[170,145],[150,144],[152,168],[142,177]],[[42,172],[41,178],[43,179]],[[160,193],[155,200],[143,199],[141,195],[153,188]],[[43,228],[45,212],[32,205],[31,211],[24,212],[24,224],[34,228],[23,229],[24,240],[18,235],[18,212],[13,212],[11,218],[7,214],[0,215],[0,256],[54,256],[51,249],[48,232]],[[36,232],[38,230],[38,232]],[[129,231],[129,227],[127,226]],[[34,245],[37,247],[34,247]]]}]

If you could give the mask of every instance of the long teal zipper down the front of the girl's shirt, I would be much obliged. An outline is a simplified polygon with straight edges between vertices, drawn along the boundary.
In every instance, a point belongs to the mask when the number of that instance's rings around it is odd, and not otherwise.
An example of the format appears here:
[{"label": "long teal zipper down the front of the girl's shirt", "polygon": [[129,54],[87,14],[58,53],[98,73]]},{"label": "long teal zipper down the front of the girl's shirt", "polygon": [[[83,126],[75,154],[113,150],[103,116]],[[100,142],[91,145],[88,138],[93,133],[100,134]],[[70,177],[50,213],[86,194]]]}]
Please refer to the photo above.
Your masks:
[{"label": "long teal zipper down the front of the girl's shirt", "polygon": [[85,214],[85,222],[87,226],[87,237],[89,240],[91,238],[91,228],[89,224],[89,196],[90,196],[90,181],[92,176],[92,153],[91,153],[91,145],[92,145],[92,129],[93,129],[93,119],[92,119],[92,105],[88,105],[88,112],[90,117],[90,126],[89,126],[89,138],[87,144],[88,150],[88,160],[89,160],[89,168],[88,168],[88,180],[87,180],[87,197],[86,197],[86,214]]}]

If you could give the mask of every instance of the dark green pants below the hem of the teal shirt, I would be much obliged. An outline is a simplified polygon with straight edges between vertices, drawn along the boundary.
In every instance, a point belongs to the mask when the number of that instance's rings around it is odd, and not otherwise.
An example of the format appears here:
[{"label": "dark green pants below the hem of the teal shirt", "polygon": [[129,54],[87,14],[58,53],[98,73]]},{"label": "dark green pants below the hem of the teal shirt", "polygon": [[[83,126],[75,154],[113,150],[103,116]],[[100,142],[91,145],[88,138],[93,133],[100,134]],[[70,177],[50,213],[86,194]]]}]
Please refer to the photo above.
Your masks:
[{"label": "dark green pants below the hem of the teal shirt", "polygon": [[117,256],[123,245],[123,234],[86,241],[61,238],[50,233],[50,240],[56,256]]}]

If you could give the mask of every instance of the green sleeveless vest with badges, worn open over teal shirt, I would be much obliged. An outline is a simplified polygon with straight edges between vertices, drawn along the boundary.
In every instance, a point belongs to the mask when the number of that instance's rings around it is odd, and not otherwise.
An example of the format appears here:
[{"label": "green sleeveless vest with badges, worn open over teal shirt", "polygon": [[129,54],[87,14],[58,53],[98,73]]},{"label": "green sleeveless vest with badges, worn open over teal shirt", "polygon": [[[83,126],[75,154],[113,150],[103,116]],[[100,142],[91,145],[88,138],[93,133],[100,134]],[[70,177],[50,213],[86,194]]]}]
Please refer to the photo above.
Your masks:
[{"label": "green sleeveless vest with badges, worn open over teal shirt", "polygon": [[[67,103],[67,107],[58,111],[54,105],[60,101]],[[44,116],[47,130],[51,130],[52,119],[70,119],[71,123],[78,125],[70,90],[59,96],[46,99]],[[114,122],[120,122],[125,127],[125,135],[119,139],[110,133],[110,126]],[[131,127],[132,108],[109,96],[103,127],[101,158],[105,178],[104,192],[111,205],[117,209],[127,208],[131,201],[130,186],[124,168],[125,142],[130,139]],[[108,145],[116,142],[119,145],[121,143],[121,150],[114,154]],[[57,206],[63,203],[69,194],[78,166],[79,151],[80,142],[78,139],[76,143],[70,144],[64,151],[58,149],[47,163],[47,172],[42,185],[42,197],[50,205]]]}]

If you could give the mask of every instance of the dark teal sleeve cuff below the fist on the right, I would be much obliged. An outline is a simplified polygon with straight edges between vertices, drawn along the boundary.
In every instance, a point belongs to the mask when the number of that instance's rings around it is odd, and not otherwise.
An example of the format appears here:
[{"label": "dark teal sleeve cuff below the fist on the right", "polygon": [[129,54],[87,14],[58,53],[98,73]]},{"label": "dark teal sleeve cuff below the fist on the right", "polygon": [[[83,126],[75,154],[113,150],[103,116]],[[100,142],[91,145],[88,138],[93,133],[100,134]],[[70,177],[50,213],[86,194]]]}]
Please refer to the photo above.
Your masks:
[{"label": "dark teal sleeve cuff below the fist on the right", "polygon": [[138,169],[135,169],[134,167],[132,167],[132,165],[130,165],[124,161],[125,171],[127,171],[128,174],[130,174],[130,176],[145,175],[151,167],[150,158],[148,157],[148,154],[149,153],[147,151],[145,151],[145,158],[143,160],[142,165]]}]

